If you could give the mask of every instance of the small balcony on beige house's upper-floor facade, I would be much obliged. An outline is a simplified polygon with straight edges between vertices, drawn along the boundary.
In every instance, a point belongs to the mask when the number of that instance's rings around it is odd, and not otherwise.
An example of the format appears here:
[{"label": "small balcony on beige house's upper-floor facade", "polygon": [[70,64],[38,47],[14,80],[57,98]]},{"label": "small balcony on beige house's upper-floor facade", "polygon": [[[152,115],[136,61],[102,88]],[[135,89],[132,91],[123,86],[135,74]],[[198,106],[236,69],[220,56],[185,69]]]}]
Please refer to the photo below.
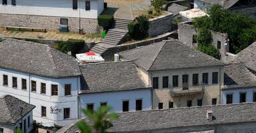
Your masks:
[{"label": "small balcony on beige house's upper-floor facade", "polygon": [[182,96],[189,94],[202,94],[204,91],[204,85],[189,86],[188,84],[183,84],[183,86],[171,87],[171,96]]}]

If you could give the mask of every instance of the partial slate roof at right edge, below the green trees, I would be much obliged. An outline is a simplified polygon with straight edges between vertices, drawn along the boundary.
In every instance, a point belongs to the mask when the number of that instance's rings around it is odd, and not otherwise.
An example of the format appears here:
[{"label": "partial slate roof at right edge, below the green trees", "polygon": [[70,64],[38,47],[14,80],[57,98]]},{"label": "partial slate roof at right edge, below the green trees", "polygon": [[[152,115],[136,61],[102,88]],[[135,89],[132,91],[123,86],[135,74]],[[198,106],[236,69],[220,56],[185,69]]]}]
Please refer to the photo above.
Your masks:
[{"label": "partial slate roof at right edge, below the green trees", "polygon": [[245,62],[245,65],[256,72],[256,42],[237,53],[237,61]]}]

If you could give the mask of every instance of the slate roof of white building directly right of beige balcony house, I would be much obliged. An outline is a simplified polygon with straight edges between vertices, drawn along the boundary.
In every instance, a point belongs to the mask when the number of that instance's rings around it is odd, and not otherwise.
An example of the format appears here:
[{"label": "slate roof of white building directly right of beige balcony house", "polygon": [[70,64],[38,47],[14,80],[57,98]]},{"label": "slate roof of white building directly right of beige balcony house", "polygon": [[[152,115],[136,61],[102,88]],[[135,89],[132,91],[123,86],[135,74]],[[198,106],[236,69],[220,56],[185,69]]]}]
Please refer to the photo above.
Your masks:
[{"label": "slate roof of white building directly right of beige balcony house", "polygon": [[231,63],[224,67],[224,85],[256,85],[256,76],[244,63]]}]

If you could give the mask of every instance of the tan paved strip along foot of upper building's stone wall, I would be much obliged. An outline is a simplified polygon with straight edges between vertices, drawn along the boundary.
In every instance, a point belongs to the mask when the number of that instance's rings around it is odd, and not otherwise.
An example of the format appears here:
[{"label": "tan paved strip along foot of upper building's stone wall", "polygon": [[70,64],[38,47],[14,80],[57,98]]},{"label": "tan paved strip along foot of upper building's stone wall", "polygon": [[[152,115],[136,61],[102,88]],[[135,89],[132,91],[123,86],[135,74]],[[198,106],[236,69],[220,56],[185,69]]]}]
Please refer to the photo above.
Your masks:
[{"label": "tan paved strip along foot of upper building's stone wall", "polygon": [[67,41],[67,39],[82,39],[85,40],[85,42],[95,42],[101,40],[101,36],[96,34],[79,35],[78,33],[59,33],[57,31],[48,31],[47,33],[43,33],[32,31],[6,30],[3,28],[0,29],[0,35],[11,38],[48,39],[59,41]]}]

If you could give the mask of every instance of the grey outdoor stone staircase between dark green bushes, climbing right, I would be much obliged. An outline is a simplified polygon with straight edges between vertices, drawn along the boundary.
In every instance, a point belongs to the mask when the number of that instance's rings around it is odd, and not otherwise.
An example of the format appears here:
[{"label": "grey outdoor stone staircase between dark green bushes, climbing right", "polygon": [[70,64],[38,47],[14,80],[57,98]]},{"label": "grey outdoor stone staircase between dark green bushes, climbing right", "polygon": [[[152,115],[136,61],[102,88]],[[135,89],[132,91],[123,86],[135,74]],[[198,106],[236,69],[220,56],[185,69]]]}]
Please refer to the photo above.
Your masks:
[{"label": "grey outdoor stone staircase between dark green bushes, climbing right", "polygon": [[105,38],[101,43],[92,47],[91,51],[103,55],[107,49],[123,43],[125,35],[128,33],[128,24],[131,21],[127,19],[115,19],[112,28],[109,29]]}]

